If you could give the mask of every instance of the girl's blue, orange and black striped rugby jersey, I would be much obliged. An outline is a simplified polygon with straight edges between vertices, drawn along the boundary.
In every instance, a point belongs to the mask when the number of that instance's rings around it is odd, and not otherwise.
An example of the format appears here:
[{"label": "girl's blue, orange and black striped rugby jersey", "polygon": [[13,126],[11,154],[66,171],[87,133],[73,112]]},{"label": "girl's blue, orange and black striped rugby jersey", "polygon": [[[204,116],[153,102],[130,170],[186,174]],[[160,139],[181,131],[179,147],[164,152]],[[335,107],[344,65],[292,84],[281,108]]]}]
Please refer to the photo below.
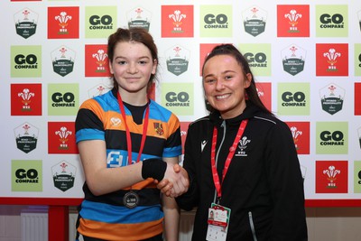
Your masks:
[{"label": "girl's blue, orange and black striped rugby jersey", "polygon": [[[153,100],[150,101],[149,107],[149,124],[141,160],[179,156],[179,119]],[[143,124],[135,124],[126,107],[125,116],[126,125],[131,132],[132,160],[136,160]],[[76,120],[77,143],[85,140],[104,140],[107,167],[125,166],[128,152],[123,123],[115,89],[102,96],[88,99],[79,108]],[[95,196],[85,182],[85,199],[79,211],[79,233],[106,240],[141,240],[161,234],[163,213],[160,191],[153,184],[153,179],[136,183],[132,189],[140,197],[140,202],[134,209],[127,209],[123,204],[123,197],[129,189]]]}]

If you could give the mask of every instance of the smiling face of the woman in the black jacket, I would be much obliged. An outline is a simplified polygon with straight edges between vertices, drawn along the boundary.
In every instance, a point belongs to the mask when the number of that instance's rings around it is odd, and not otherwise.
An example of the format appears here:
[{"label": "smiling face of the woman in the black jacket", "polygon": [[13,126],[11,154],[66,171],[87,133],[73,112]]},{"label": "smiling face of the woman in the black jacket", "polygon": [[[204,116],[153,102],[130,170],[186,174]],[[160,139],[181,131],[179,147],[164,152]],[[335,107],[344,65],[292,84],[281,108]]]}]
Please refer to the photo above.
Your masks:
[{"label": "smiling face of the woman in the black jacket", "polygon": [[245,74],[234,57],[210,58],[203,68],[203,88],[209,105],[224,119],[240,115],[245,109],[245,88],[251,79],[252,75]]}]

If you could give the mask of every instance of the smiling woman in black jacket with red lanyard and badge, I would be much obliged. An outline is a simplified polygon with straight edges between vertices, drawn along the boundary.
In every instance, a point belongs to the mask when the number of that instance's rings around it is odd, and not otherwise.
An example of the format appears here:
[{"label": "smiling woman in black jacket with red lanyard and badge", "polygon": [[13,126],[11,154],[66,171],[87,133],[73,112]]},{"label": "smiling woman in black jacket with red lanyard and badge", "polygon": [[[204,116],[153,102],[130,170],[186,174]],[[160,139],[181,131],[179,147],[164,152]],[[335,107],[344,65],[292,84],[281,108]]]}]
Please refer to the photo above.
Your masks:
[{"label": "smiling woman in black jacket with red lanyard and badge", "polygon": [[192,240],[307,240],[288,125],[264,107],[233,45],[213,49],[202,75],[210,114],[189,127],[183,167],[190,189],[177,198],[181,209],[197,207]]}]

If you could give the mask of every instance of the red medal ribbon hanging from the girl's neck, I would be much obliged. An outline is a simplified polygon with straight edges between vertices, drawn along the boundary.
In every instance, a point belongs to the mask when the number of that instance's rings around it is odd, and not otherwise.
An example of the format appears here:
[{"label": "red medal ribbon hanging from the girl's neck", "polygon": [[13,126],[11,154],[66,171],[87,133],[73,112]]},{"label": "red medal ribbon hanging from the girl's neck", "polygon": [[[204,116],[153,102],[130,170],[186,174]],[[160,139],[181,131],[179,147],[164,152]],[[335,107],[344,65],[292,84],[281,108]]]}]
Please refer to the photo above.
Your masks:
[{"label": "red medal ribbon hanging from the girl's neck", "polygon": [[[129,131],[128,125],[126,125],[125,107],[124,107],[123,100],[122,100],[122,97],[120,97],[119,92],[117,93],[117,97],[118,97],[120,111],[122,112],[122,116],[123,116],[123,119],[125,122],[126,147],[128,149],[128,165],[131,165],[132,164],[132,138],[130,136],[130,131]],[[148,128],[148,121],[149,121],[149,105],[146,107],[146,110],[145,110],[141,147],[139,149],[138,157],[136,158],[136,162],[140,161],[141,155],[143,153],[146,132],[147,132],[147,128]]]}]

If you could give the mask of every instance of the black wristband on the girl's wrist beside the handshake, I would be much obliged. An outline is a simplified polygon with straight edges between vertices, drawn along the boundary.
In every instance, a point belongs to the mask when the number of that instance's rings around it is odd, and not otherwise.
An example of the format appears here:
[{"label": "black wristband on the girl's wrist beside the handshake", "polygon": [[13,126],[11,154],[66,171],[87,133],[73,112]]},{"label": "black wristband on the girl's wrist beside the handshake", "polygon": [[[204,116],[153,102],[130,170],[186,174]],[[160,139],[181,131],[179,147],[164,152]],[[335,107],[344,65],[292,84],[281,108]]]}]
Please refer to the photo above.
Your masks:
[{"label": "black wristband on the girl's wrist beside the handshake", "polygon": [[153,178],[162,181],[165,170],[167,169],[167,162],[159,158],[151,158],[143,161],[142,177],[143,179]]}]

